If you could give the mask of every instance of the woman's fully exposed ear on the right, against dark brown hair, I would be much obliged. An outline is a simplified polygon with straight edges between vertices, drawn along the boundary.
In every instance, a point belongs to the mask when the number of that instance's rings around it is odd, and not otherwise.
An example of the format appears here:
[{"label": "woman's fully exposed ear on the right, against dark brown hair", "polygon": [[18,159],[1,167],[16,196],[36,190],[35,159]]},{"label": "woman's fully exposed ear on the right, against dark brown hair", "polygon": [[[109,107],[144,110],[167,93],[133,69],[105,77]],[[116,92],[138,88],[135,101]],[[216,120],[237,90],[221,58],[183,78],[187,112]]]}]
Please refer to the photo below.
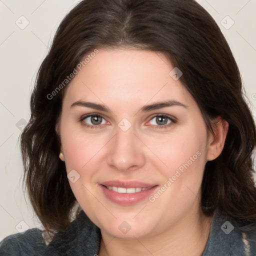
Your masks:
[{"label": "woman's fully exposed ear on the right, against dark brown hair", "polygon": [[212,125],[214,135],[210,133],[207,141],[207,161],[217,158],[224,147],[228,122],[218,116]]}]

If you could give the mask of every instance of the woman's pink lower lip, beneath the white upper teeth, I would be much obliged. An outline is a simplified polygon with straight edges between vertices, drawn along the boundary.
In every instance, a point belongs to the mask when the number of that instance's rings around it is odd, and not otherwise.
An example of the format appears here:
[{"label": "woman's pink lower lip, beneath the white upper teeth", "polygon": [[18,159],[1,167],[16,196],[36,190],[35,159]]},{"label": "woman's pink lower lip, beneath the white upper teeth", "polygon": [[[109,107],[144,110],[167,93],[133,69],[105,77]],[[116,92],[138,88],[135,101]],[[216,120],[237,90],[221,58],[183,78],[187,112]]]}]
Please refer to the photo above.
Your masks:
[{"label": "woman's pink lower lip, beneath the white upper teeth", "polygon": [[135,193],[118,193],[113,190],[107,189],[105,186],[100,185],[104,195],[112,202],[122,204],[122,205],[131,205],[135,204],[145,198],[148,198],[150,194],[156,189],[157,185],[147,189],[141,190],[140,192]]}]

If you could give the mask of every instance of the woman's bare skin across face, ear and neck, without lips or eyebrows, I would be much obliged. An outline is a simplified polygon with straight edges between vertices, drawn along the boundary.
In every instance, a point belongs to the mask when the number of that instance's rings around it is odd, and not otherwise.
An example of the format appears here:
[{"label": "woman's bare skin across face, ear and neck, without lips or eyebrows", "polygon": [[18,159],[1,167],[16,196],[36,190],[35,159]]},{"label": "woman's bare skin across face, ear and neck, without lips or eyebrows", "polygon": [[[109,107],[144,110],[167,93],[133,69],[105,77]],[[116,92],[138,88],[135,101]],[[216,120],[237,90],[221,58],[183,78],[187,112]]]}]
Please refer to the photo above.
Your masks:
[{"label": "woman's bare skin across face, ear and neck, without lips or eyebrows", "polygon": [[[217,118],[216,136],[207,133],[195,100],[180,79],[170,75],[172,64],[160,53],[132,48],[99,49],[78,72],[65,91],[56,131],[60,135],[67,173],[80,177],[71,189],[84,212],[101,230],[99,255],[200,255],[206,245],[212,217],[200,209],[200,187],[205,163],[222,151],[228,124]],[[104,104],[106,113],[70,105],[77,100]],[[170,106],[149,112],[139,109],[164,100]],[[85,114],[102,115],[93,122]],[[156,114],[168,114],[164,123]],[[131,127],[118,123],[126,118]],[[91,122],[92,121],[92,122]],[[94,128],[88,128],[94,124]],[[95,124],[96,123],[96,124]],[[167,126],[168,123],[171,125]],[[108,200],[98,183],[106,180],[139,180],[161,187],[196,152],[200,156],[150,202],[120,205]],[[126,221],[127,233],[118,226]],[[151,253],[151,254],[150,254]]]}]

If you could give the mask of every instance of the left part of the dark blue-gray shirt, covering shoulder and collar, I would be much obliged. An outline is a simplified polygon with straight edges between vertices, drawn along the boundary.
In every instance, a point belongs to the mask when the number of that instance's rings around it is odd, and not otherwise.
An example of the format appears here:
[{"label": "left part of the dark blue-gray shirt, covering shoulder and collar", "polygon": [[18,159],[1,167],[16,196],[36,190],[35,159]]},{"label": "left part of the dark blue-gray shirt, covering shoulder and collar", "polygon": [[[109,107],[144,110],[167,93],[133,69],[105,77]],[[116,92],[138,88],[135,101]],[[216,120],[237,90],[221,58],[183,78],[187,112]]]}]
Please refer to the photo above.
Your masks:
[{"label": "left part of the dark blue-gray shirt, covering shoulder and collar", "polygon": [[0,242],[1,256],[91,256],[97,255],[100,245],[100,229],[81,211],[64,230],[59,231],[46,245],[41,231],[28,229],[5,237]]}]

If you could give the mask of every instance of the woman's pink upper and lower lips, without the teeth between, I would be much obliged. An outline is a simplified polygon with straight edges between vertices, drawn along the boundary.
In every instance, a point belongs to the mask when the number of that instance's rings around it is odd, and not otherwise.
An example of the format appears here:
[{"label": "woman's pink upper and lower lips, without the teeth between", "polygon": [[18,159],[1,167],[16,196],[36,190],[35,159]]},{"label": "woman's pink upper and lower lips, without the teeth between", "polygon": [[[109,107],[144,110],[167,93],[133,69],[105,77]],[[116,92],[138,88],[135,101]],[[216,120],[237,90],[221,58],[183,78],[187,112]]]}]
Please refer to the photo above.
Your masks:
[{"label": "woman's pink upper and lower lips, without the teeth between", "polygon": [[[154,190],[158,187],[158,185],[148,184],[140,181],[119,181],[119,180],[109,180],[99,184],[99,186],[104,196],[108,200],[121,205],[132,205],[146,198],[148,199],[150,194],[152,194]],[[140,192],[135,192],[135,193],[118,193],[106,188],[105,186],[117,186],[117,187],[124,187],[124,188],[131,188],[131,187],[150,187],[150,188],[147,190],[141,190]]]}]

